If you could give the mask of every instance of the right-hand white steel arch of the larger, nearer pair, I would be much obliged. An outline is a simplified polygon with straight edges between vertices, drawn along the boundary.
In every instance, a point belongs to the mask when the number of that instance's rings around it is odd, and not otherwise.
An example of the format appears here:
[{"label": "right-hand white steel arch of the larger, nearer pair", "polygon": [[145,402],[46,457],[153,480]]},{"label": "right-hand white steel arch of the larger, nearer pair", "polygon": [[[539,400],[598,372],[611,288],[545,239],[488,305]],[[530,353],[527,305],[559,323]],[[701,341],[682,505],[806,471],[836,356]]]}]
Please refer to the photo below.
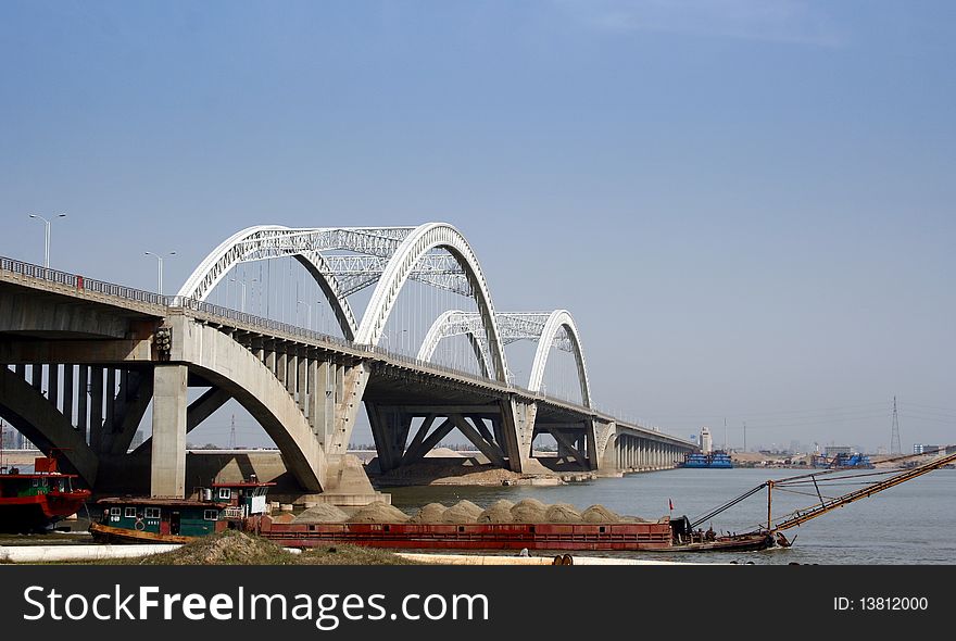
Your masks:
[{"label": "right-hand white steel arch of the larger, nearer pair", "polygon": [[483,339],[489,347],[490,365],[494,369],[494,377],[502,382],[507,382],[504,347],[498,331],[494,307],[485,274],[481,272],[481,266],[468,241],[465,240],[461,231],[446,223],[426,223],[416,227],[405,237],[375,287],[372,300],[362,317],[362,324],[358,326],[358,331],[355,332],[355,342],[369,345],[378,344],[402,287],[417,263],[435,249],[446,250],[464,269],[471,294],[478,304]]}]

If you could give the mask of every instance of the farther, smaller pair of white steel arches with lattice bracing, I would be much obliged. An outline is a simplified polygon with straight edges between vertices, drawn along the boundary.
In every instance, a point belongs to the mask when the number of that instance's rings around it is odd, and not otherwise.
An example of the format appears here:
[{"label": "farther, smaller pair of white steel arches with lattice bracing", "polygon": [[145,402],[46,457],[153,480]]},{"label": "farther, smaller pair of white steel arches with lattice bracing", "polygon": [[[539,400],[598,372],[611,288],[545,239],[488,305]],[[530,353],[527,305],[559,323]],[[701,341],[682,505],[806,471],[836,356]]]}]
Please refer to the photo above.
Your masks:
[{"label": "farther, smaller pair of white steel arches with lattice bracing", "polygon": [[[540,392],[544,380],[544,367],[548,364],[548,354],[553,349],[569,352],[575,355],[578,366],[578,378],[581,385],[581,399],[586,406],[591,406],[591,394],[588,382],[588,367],[584,362],[584,353],[577,326],[567,310],[554,312],[506,312],[495,316],[495,323],[501,332],[501,340],[510,344],[518,340],[533,340],[538,342],[534,353],[534,362],[531,366],[531,375],[528,389]],[[475,351],[475,357],[482,374],[487,376],[488,349],[482,340],[482,320],[476,312],[463,312],[452,310],[439,316],[418,350],[419,361],[430,361],[438,344],[445,338],[453,336],[466,336]]]}]

